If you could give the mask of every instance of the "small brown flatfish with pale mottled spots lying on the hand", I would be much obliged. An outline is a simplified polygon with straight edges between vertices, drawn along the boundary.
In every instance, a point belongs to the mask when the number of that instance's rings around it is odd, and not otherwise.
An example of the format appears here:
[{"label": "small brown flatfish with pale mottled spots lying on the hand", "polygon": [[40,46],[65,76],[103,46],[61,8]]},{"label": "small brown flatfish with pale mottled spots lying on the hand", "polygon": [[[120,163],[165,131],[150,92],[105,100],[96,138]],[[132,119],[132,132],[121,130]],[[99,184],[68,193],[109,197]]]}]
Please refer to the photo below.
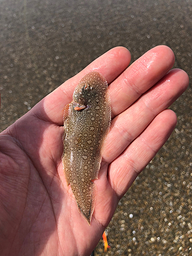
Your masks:
[{"label": "small brown flatfish with pale mottled spots lying on the hand", "polygon": [[101,151],[111,124],[108,83],[98,72],[85,75],[75,88],[63,116],[62,163],[78,209],[91,223]]}]

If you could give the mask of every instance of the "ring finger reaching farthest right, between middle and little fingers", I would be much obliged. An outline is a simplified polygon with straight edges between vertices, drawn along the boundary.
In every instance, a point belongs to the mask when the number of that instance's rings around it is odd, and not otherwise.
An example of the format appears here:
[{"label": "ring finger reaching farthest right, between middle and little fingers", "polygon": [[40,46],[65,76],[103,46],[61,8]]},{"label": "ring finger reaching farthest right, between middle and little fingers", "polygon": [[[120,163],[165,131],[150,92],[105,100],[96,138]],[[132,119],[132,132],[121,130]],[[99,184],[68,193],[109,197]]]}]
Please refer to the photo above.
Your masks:
[{"label": "ring finger reaching farthest right, between middle and little fingers", "polygon": [[104,161],[110,163],[117,158],[160,112],[167,109],[186,90],[187,86],[187,74],[179,69],[172,70],[129,109],[116,116],[106,138]]}]

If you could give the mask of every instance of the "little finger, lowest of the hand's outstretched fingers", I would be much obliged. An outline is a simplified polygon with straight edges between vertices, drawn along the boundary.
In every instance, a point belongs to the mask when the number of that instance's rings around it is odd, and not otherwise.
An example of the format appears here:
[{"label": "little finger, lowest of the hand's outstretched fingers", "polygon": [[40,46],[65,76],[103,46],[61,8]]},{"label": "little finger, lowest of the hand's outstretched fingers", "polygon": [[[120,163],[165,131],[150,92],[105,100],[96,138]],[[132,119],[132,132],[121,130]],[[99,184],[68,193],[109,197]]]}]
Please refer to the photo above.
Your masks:
[{"label": "little finger, lowest of the hand's outstretched fingers", "polygon": [[114,161],[109,168],[109,182],[121,198],[141,170],[166,142],[177,123],[171,110],[161,112],[146,130]]}]

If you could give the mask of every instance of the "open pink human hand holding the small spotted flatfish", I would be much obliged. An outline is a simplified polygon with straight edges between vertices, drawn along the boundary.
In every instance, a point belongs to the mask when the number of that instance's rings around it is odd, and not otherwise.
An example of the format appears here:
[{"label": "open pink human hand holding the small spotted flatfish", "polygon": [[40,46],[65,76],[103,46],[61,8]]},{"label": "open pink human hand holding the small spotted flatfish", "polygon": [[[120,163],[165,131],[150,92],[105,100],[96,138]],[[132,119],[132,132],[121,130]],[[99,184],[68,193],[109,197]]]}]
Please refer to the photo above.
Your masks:
[{"label": "open pink human hand holding the small spotted flatfish", "polygon": [[[158,46],[130,67],[116,47],[50,93],[0,134],[0,254],[90,255],[120,198],[166,142],[177,122],[167,110],[187,88],[174,53]],[[91,71],[108,81],[112,122],[102,154],[91,226],[63,174],[63,108]]]}]

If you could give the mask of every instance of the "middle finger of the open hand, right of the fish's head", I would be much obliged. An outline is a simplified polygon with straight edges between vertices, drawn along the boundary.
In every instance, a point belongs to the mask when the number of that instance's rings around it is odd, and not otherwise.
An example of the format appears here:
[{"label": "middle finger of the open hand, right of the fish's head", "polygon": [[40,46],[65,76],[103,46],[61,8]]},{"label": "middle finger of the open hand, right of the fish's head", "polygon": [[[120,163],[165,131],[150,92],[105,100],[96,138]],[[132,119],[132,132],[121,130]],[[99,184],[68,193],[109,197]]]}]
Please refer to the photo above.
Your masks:
[{"label": "middle finger of the open hand, right of the fish's head", "polygon": [[174,65],[173,51],[158,46],[146,52],[112,84],[110,95],[112,117],[129,108],[143,93],[158,82]]}]

